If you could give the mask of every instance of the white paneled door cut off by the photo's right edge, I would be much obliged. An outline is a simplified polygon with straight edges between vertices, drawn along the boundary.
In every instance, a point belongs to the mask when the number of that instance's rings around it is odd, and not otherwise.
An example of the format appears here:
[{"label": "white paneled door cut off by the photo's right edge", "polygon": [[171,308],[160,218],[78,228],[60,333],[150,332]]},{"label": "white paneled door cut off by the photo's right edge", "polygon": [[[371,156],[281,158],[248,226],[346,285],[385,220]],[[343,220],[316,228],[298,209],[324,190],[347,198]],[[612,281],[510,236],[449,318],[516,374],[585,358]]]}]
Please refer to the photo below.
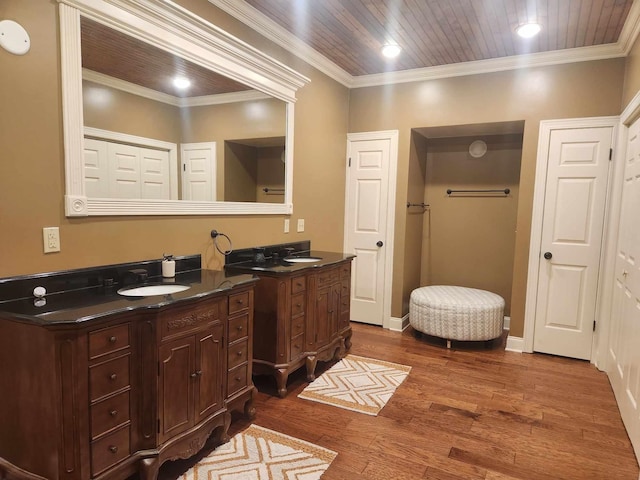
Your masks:
[{"label": "white paneled door cut off by the photo's right edge", "polygon": [[622,188],[607,370],[640,455],[640,120],[628,129]]}]

